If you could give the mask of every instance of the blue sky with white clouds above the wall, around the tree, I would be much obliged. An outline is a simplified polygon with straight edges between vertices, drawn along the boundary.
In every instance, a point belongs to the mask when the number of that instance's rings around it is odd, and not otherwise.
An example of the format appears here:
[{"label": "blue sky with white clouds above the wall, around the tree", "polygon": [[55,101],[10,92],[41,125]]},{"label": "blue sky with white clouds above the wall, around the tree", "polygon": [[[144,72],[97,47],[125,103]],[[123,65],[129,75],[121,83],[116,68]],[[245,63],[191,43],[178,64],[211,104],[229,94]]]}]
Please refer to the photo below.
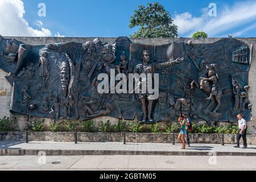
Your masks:
[{"label": "blue sky with white clouds above the wall, around the tree", "polygon": [[[0,35],[118,37],[130,36],[130,16],[139,5],[159,2],[170,12],[180,37],[205,31],[209,37],[255,37],[256,0],[0,0]],[[39,16],[46,5],[46,16]],[[216,16],[210,3],[216,4]],[[42,11],[40,11],[42,13]]]}]

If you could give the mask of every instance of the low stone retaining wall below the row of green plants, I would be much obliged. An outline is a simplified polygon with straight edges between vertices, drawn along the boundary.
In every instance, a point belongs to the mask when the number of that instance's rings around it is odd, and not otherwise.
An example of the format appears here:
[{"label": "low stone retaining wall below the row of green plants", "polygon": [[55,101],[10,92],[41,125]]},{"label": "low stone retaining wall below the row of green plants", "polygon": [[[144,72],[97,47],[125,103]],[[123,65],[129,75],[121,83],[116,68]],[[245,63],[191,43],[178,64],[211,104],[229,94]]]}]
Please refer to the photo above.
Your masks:
[{"label": "low stone retaining wall below the row of green plants", "polygon": [[[221,144],[221,134],[189,134],[191,143],[215,143]],[[126,142],[133,143],[172,143],[172,134],[154,133],[126,133]],[[26,140],[24,132],[2,132],[0,140]],[[74,142],[75,134],[71,132],[28,132],[28,140]],[[123,142],[123,133],[77,133],[78,142]],[[236,144],[236,135],[225,134],[225,144]],[[175,134],[177,143],[177,134]],[[247,143],[256,145],[256,135],[247,135]],[[242,139],[241,139],[242,145]]]}]

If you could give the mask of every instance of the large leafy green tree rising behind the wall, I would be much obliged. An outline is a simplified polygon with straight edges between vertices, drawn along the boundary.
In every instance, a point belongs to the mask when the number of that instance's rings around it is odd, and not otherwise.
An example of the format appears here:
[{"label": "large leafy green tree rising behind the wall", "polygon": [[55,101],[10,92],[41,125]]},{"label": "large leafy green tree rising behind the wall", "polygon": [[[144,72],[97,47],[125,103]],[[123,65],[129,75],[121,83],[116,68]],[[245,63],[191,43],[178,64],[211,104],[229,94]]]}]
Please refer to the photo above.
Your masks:
[{"label": "large leafy green tree rising behind the wall", "polygon": [[129,27],[140,28],[131,38],[175,38],[178,36],[177,26],[172,22],[170,13],[158,2],[147,3],[147,7],[138,6],[130,17]]}]

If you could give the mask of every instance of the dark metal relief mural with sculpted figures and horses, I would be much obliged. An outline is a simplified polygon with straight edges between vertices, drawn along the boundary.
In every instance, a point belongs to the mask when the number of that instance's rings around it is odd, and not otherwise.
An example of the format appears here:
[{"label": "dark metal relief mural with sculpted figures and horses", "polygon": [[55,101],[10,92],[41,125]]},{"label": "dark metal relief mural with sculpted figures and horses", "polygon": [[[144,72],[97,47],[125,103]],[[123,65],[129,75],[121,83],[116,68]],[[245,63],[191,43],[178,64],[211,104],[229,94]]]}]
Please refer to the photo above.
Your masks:
[{"label": "dark metal relief mural with sculpted figures and horses", "polygon": [[[15,115],[87,120],[110,116],[144,123],[176,121],[232,122],[251,119],[248,73],[251,47],[224,38],[211,44],[174,42],[162,46],[114,44],[94,39],[31,46],[0,36],[0,68],[13,86]],[[100,73],[159,73],[159,97],[148,93],[99,94]]]}]

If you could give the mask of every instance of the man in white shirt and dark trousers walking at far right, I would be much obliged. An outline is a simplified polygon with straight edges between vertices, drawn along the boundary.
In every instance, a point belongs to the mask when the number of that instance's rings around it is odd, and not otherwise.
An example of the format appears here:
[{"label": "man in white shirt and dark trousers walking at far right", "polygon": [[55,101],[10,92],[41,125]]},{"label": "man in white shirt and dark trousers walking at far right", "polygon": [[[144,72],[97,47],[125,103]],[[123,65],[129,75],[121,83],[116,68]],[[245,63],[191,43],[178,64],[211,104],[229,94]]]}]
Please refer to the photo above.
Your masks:
[{"label": "man in white shirt and dark trousers walking at far right", "polygon": [[235,148],[240,147],[240,139],[243,138],[243,148],[247,148],[247,141],[246,141],[246,133],[247,133],[247,125],[245,119],[243,119],[242,114],[237,115],[238,120],[238,126],[239,130],[237,133],[237,146],[234,146]]}]

